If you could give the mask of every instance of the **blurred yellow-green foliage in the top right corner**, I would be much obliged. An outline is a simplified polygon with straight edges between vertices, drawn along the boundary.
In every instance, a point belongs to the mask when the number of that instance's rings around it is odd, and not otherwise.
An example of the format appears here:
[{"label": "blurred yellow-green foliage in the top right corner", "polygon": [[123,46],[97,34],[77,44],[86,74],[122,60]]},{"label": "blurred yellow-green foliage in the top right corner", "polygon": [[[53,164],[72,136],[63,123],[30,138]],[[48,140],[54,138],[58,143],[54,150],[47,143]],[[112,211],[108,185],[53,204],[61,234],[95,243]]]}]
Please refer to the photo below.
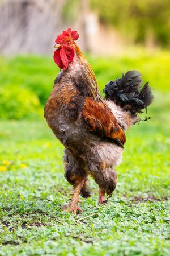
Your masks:
[{"label": "blurred yellow-green foliage in the top right corner", "polygon": [[170,0],[90,0],[100,21],[112,24],[136,43],[152,36],[157,44],[170,46]]}]

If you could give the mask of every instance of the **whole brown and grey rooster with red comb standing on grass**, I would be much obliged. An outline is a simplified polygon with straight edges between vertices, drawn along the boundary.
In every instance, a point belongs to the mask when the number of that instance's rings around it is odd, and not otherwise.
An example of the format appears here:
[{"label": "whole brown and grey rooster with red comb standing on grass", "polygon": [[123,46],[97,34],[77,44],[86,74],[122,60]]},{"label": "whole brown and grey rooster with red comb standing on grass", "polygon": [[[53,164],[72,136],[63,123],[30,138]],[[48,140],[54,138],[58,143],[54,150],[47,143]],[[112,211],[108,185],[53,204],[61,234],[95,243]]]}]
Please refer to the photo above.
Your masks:
[{"label": "whole brown and grey rooster with red comb standing on grass", "polygon": [[148,83],[140,89],[140,73],[128,71],[121,79],[108,82],[103,99],[95,74],[75,43],[78,38],[78,32],[71,28],[57,36],[54,61],[61,71],[45,105],[46,121],[65,147],[65,178],[74,187],[63,210],[75,214],[82,212],[79,195],[91,196],[89,175],[99,185],[99,204],[112,196],[125,130],[140,121],[137,114],[154,98]]}]

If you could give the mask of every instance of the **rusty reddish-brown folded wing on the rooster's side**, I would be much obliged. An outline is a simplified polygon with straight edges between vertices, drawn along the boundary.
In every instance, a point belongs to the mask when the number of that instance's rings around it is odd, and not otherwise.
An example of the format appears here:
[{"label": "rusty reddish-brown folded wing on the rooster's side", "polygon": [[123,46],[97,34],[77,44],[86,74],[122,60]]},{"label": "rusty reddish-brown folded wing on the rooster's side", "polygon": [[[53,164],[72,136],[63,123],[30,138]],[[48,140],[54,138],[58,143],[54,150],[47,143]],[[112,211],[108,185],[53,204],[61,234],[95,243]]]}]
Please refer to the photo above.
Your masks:
[{"label": "rusty reddish-brown folded wing on the rooster's side", "polygon": [[118,122],[111,110],[102,102],[95,102],[87,97],[82,110],[82,117],[86,128],[100,137],[118,139],[124,145],[126,141],[125,133],[118,125]]}]

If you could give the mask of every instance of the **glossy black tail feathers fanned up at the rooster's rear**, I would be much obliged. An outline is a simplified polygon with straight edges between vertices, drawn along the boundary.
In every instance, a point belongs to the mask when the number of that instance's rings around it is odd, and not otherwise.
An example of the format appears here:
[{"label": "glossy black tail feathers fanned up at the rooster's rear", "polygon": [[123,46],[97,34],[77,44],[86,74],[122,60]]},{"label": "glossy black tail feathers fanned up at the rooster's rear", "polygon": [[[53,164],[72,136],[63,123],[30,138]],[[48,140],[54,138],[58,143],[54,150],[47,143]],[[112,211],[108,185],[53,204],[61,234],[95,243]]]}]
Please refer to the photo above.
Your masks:
[{"label": "glossy black tail feathers fanned up at the rooster's rear", "polygon": [[[148,82],[141,88],[141,74],[138,71],[128,71],[121,79],[110,81],[105,86],[105,100],[112,100],[131,114],[142,113],[152,102],[154,96]],[[147,109],[146,109],[147,110]]]}]

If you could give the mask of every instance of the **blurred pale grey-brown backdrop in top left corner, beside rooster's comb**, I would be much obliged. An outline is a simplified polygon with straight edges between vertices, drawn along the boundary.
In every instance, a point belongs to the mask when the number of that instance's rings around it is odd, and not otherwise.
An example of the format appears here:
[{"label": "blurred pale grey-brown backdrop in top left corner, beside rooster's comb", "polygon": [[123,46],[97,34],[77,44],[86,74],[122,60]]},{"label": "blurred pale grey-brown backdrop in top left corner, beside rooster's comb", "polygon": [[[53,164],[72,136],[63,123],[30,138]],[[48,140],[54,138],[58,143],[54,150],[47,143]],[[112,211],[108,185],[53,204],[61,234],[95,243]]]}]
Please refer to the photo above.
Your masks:
[{"label": "blurred pale grey-brown backdrop in top left corner, beside rooster's comb", "polygon": [[50,53],[63,28],[66,0],[7,0],[0,2],[0,52]]}]

